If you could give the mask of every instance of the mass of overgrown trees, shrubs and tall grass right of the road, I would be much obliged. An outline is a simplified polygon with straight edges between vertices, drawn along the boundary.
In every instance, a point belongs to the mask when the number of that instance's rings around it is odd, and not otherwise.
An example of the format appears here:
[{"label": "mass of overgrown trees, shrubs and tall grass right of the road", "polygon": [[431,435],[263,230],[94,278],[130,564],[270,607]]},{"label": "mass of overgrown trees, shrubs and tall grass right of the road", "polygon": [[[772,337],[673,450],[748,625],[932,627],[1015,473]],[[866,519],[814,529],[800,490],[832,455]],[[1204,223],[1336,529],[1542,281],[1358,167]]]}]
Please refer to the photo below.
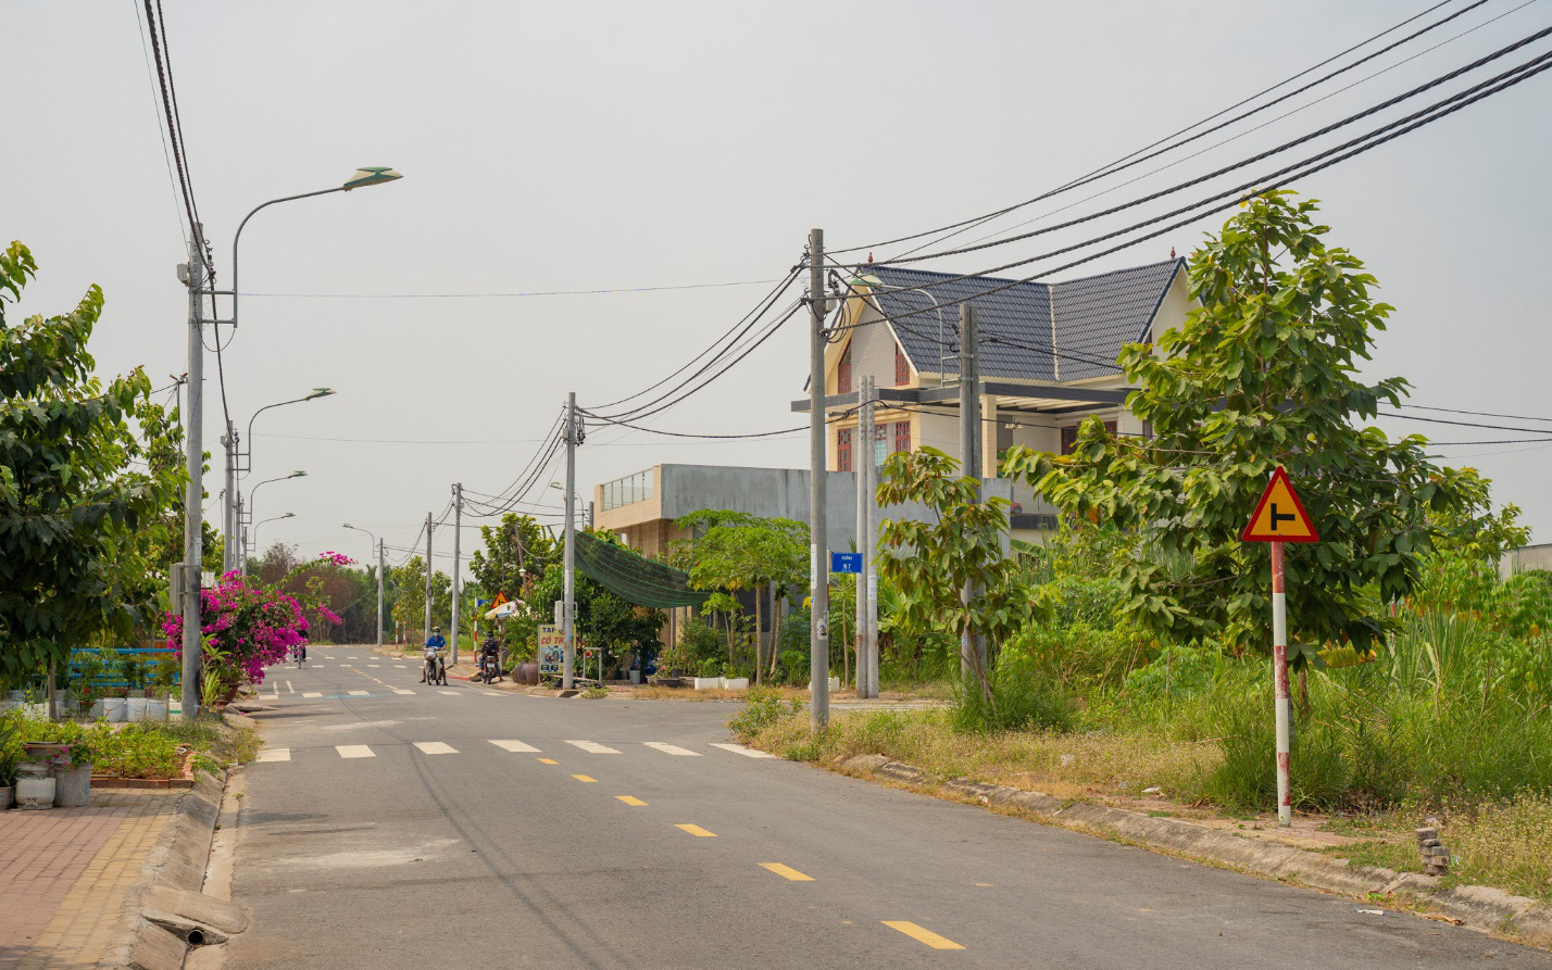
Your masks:
[{"label": "mass of overgrown trees, shrubs and tall grass right of the road", "polygon": [[[894,531],[885,677],[951,684],[945,709],[840,714],[813,733],[760,700],[740,737],[1062,796],[1158,788],[1178,810],[1270,812],[1268,568],[1237,532],[1282,464],[1322,535],[1288,549],[1294,807],[1380,826],[1439,815],[1453,878],[1552,899],[1552,573],[1501,577],[1504,549],[1529,542],[1518,509],[1495,509],[1474,470],[1434,466],[1423,439],[1363,427],[1406,386],[1356,379],[1391,310],[1313,216],[1284,196],[1249,203],[1192,258],[1203,307],[1159,338],[1169,352],[1122,357],[1145,388],[1128,408],[1158,438],[1090,422],[1071,459],[1009,458],[1068,512],[1049,545],[1013,543],[995,576],[970,576],[941,562],[951,537]],[[939,515],[965,523],[959,542],[993,542],[995,506],[920,455],[891,459],[880,498],[951,494]],[[987,593],[959,596],[970,580]],[[1003,624],[995,594],[1034,608]],[[961,681],[959,635],[976,624],[993,650]]]}]

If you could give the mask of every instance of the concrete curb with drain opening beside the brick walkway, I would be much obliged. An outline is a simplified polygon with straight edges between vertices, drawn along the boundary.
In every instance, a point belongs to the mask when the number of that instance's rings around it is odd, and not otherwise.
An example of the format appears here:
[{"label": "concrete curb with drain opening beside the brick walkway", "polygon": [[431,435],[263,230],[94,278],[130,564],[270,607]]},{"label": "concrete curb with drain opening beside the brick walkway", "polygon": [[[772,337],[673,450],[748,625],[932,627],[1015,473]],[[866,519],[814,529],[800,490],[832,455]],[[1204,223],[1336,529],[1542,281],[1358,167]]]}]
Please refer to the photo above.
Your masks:
[{"label": "concrete curb with drain opening beside the brick walkway", "polygon": [[[166,908],[172,894],[199,894],[205,885],[205,866],[210,847],[216,838],[216,818],[220,813],[222,792],[227,781],[208,771],[197,771],[194,787],[180,799],[174,812],[177,818],[168,824],[157,846],[151,850],[141,872],[151,878],[130,889],[126,900],[126,919],[132,923],[132,942],[121,959],[104,965],[127,970],[180,970],[189,945],[185,936],[147,919]],[[147,902],[151,908],[147,909]]]}]

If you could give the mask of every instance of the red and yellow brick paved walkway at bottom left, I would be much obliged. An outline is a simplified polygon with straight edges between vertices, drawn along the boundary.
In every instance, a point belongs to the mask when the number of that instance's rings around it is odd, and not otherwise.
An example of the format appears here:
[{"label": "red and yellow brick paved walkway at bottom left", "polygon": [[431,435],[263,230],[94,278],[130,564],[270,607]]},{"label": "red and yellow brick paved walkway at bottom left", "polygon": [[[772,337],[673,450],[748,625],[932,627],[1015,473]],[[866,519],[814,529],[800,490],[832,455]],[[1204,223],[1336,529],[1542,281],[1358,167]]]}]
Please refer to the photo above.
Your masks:
[{"label": "red and yellow brick paved walkway at bottom left", "polygon": [[93,790],[85,809],[0,812],[0,970],[96,967],[182,792]]}]

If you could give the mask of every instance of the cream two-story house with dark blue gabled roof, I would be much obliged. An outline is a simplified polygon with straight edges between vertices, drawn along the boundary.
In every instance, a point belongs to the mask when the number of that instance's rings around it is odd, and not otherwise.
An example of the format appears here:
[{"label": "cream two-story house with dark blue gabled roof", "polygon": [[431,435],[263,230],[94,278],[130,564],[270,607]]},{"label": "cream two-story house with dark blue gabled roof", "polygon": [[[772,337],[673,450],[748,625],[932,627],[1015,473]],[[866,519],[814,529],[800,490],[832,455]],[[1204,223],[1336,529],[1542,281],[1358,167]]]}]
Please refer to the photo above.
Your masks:
[{"label": "cream two-story house with dark blue gabled roof", "polygon": [[[832,324],[838,338],[826,351],[824,383],[827,413],[846,414],[858,404],[861,377],[874,379],[875,466],[922,445],[959,456],[958,304],[965,300],[979,329],[982,478],[998,476],[998,455],[1013,445],[1065,453],[1094,414],[1121,433],[1147,435],[1124,407],[1131,386],[1114,362],[1125,345],[1180,326],[1193,306],[1184,259],[1063,282],[864,267],[847,281]],[[807,411],[809,402],[793,410]],[[868,450],[855,414],[830,425],[830,470],[854,470]],[[1012,494],[1015,535],[1054,528],[1054,511],[1027,486],[1015,483]]]}]

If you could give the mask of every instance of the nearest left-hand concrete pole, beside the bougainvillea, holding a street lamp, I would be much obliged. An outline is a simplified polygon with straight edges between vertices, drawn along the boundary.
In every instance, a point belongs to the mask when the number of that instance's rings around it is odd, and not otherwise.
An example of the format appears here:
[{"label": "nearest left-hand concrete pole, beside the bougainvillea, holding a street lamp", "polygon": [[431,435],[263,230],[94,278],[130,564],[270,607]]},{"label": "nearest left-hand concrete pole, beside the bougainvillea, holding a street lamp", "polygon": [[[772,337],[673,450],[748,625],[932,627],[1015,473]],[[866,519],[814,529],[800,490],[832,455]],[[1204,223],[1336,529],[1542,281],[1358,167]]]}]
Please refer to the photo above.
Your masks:
[{"label": "nearest left-hand concrete pole, beside the bougainvillea, holding a street lamp", "polygon": [[188,462],[188,490],[183,494],[183,669],[180,703],[183,719],[199,717],[199,681],[200,681],[200,562],[205,557],[205,442],[203,405],[205,405],[205,335],[202,327],[202,290],[205,287],[205,239],[202,225],[192,227],[189,241],[189,261],[185,267],[185,278],[189,287],[189,413],[183,428],[183,441],[188,445],[185,459]]}]

